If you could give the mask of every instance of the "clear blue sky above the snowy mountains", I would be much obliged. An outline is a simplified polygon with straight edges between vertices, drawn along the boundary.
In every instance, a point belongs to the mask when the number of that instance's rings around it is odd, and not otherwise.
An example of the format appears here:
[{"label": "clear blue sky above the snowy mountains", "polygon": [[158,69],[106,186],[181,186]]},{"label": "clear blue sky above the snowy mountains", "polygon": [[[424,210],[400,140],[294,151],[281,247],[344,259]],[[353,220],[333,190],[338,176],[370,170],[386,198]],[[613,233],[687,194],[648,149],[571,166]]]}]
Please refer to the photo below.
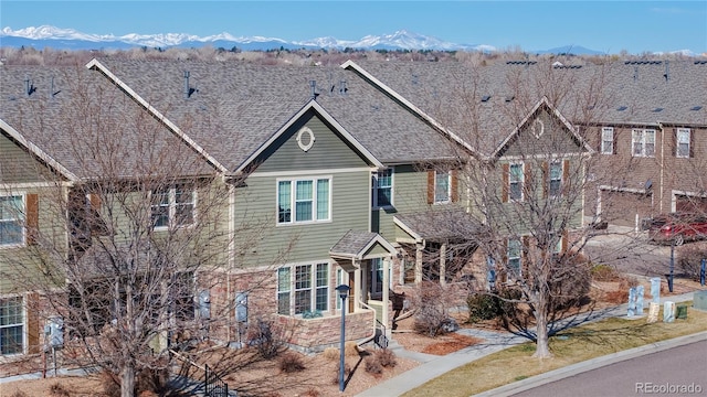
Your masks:
[{"label": "clear blue sky above the snowy mountains", "polygon": [[228,32],[304,41],[399,30],[499,50],[583,46],[606,53],[707,53],[707,1],[0,1],[0,28],[116,36]]}]

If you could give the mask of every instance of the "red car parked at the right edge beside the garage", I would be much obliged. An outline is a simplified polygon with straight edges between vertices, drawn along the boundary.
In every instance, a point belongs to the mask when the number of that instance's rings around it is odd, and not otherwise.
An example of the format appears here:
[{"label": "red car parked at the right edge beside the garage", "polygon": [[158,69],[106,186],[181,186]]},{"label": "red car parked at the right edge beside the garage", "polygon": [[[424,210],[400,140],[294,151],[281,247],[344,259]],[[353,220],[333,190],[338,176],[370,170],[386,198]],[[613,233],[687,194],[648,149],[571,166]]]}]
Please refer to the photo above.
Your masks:
[{"label": "red car parked at the right edge beside the garage", "polygon": [[655,216],[648,227],[653,243],[683,245],[688,240],[707,238],[707,215],[671,213]]}]

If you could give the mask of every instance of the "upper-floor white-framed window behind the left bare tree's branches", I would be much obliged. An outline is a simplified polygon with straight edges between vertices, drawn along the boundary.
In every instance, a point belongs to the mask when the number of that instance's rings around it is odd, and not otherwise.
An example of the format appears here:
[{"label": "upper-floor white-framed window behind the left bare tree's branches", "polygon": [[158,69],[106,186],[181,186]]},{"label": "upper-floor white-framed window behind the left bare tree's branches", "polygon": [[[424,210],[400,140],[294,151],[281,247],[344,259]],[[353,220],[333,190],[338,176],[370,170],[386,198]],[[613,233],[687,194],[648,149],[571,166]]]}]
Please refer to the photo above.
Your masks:
[{"label": "upper-floor white-framed window behind the left bare tree's branches", "polygon": [[152,191],[152,225],[155,228],[183,227],[193,224],[196,193],[186,185]]}]

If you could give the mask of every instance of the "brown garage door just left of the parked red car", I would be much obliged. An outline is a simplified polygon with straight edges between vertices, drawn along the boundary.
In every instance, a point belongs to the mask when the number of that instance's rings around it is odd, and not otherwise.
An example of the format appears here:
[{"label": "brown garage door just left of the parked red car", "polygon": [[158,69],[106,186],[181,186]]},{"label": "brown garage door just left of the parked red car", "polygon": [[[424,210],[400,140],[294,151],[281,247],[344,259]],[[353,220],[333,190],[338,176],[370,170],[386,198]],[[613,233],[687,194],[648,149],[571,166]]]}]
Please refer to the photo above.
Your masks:
[{"label": "brown garage door just left of the parked red car", "polygon": [[601,191],[601,218],[612,225],[636,227],[641,225],[641,219],[654,215],[652,208],[652,193]]}]

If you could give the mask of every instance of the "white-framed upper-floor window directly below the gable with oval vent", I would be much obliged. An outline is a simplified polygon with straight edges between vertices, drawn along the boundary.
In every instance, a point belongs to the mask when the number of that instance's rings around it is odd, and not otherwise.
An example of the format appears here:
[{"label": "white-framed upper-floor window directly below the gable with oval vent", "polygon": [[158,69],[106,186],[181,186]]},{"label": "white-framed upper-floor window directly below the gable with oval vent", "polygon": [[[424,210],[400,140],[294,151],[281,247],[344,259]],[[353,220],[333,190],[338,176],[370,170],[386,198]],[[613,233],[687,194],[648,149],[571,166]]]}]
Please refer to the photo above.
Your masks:
[{"label": "white-framed upper-floor window directly below the gable with oval vent", "polygon": [[278,181],[277,223],[329,221],[330,194],[330,179]]}]

